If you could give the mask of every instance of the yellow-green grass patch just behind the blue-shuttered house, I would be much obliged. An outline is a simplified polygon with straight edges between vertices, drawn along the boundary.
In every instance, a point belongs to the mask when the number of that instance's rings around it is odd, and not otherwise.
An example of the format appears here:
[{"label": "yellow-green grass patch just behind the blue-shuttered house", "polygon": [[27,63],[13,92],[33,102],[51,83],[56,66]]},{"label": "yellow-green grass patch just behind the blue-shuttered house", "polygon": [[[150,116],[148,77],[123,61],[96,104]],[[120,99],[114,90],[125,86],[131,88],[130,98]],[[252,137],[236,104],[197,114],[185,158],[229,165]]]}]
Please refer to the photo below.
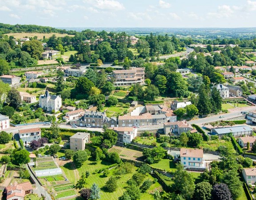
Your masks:
[{"label": "yellow-green grass patch just behind the blue-shuttered house", "polygon": [[225,146],[225,147],[231,148],[231,149],[233,149],[233,152],[235,152],[235,149],[234,149],[232,143],[229,141],[226,141],[226,140],[203,141],[199,144],[200,149],[209,148],[209,150],[211,150],[211,151],[216,151],[218,149],[218,147],[220,147],[220,146]]}]

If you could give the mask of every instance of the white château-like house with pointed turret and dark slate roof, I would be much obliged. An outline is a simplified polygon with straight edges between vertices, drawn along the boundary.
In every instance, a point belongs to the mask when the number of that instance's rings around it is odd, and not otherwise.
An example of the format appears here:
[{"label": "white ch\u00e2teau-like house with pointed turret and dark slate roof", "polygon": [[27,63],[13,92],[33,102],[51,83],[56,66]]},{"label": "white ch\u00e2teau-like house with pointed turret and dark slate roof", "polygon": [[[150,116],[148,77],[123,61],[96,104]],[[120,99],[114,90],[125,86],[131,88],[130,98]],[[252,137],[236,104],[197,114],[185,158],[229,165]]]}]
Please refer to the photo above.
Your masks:
[{"label": "white ch\u00e2teau-like house with pointed turret and dark slate roof", "polygon": [[57,112],[61,106],[61,97],[59,95],[50,95],[48,90],[45,91],[44,95],[39,96],[39,107],[46,111]]}]

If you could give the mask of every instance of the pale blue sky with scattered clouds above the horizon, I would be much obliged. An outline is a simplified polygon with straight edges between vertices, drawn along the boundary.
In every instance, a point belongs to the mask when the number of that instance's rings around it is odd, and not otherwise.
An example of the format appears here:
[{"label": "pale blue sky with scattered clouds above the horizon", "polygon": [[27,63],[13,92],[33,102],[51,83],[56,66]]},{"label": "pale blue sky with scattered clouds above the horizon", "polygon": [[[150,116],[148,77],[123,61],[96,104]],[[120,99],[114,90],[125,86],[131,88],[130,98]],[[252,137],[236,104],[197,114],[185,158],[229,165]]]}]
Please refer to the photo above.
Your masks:
[{"label": "pale blue sky with scattered clouds above the horizon", "polygon": [[0,0],[0,23],[52,27],[256,27],[256,0]]}]

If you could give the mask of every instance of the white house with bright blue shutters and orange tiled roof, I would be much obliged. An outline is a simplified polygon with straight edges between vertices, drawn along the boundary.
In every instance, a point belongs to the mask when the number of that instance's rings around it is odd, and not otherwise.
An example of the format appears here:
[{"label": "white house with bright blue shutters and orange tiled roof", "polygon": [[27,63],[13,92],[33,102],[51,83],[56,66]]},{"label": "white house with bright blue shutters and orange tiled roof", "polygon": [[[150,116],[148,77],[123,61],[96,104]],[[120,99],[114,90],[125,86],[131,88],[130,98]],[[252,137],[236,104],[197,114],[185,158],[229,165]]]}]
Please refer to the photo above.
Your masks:
[{"label": "white house with bright blue shutters and orange tiled roof", "polygon": [[203,149],[180,148],[180,163],[184,167],[205,168]]}]

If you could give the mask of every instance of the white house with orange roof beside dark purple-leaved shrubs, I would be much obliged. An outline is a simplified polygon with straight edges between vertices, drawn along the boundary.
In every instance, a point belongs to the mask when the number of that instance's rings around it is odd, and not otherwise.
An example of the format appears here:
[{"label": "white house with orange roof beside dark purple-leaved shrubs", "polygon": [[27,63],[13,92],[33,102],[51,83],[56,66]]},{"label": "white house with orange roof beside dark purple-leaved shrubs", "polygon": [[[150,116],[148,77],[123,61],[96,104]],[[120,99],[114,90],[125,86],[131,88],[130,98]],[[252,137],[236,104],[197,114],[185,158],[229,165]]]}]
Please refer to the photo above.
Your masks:
[{"label": "white house with orange roof beside dark purple-leaved shrubs", "polygon": [[20,129],[19,136],[24,144],[29,144],[32,140],[38,140],[41,138],[41,129],[40,128]]}]

